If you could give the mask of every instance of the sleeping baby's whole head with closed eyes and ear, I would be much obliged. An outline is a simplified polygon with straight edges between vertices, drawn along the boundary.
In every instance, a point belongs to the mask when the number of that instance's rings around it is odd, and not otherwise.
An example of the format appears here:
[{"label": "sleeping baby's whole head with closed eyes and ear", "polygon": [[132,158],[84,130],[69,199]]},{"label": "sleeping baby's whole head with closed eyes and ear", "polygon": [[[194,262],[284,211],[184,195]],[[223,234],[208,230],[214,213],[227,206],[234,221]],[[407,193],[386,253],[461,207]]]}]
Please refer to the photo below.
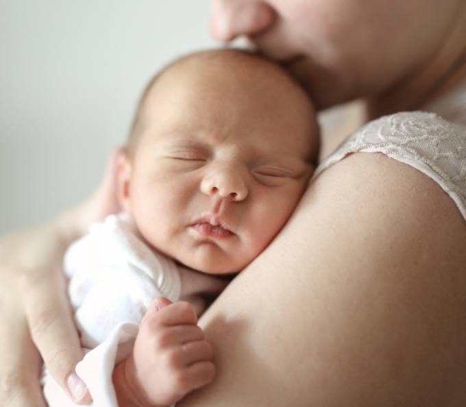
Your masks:
[{"label": "sleeping baby's whole head with closed eyes and ear", "polygon": [[147,86],[119,197],[149,245],[207,273],[240,271],[295,209],[319,149],[306,93],[234,50],[169,65]]}]

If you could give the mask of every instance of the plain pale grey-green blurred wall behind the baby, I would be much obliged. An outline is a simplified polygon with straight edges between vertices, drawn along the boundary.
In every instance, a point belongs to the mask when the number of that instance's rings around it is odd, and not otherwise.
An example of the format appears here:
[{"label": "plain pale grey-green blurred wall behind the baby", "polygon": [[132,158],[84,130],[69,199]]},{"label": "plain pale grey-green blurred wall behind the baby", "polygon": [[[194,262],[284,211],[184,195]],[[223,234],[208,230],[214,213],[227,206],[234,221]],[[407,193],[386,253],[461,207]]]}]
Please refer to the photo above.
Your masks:
[{"label": "plain pale grey-green blurred wall behind the baby", "polygon": [[[147,80],[216,47],[208,0],[0,0],[0,234],[97,186]],[[338,110],[327,114],[338,123]],[[330,149],[335,142],[327,142]]]}]

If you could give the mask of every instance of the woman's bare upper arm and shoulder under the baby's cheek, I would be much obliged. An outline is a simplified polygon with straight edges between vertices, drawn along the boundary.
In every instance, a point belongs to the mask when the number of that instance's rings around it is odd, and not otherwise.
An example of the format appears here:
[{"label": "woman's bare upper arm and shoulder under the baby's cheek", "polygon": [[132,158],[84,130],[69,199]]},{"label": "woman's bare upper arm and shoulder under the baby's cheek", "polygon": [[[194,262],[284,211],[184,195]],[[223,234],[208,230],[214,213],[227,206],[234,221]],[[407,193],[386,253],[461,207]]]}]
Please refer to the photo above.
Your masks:
[{"label": "woman's bare upper arm and shoulder under the baby's cheek", "polygon": [[375,153],[322,173],[204,314],[217,378],[187,406],[464,406],[466,223]]}]

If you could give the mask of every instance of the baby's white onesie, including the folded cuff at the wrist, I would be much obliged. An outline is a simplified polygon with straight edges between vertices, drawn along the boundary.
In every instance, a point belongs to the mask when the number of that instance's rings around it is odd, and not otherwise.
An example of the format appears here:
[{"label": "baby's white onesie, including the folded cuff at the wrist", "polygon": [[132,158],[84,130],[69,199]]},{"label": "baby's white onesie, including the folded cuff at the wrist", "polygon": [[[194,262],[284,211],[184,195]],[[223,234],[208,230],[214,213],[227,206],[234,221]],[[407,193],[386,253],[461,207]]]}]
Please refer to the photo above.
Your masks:
[{"label": "baby's white onesie, including the folded cuff at the wrist", "polygon": [[[96,407],[118,406],[112,371],[132,351],[138,323],[155,297],[189,301],[199,315],[206,308],[203,294],[218,294],[225,286],[218,277],[188,270],[149,248],[127,214],[90,227],[66,252],[64,272],[86,352],[76,371]],[[42,382],[50,407],[75,406],[47,371]]]}]

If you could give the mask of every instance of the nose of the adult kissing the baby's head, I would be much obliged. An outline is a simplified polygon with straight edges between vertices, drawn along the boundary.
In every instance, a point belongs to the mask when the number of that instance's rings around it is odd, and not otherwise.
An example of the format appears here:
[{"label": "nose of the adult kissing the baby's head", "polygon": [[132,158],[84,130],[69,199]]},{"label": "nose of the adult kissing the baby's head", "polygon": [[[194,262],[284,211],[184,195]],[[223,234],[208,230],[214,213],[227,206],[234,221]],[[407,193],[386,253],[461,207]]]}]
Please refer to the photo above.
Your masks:
[{"label": "nose of the adult kissing the baby's head", "polygon": [[275,10],[265,1],[212,0],[210,33],[220,41],[254,36],[273,25]]}]

